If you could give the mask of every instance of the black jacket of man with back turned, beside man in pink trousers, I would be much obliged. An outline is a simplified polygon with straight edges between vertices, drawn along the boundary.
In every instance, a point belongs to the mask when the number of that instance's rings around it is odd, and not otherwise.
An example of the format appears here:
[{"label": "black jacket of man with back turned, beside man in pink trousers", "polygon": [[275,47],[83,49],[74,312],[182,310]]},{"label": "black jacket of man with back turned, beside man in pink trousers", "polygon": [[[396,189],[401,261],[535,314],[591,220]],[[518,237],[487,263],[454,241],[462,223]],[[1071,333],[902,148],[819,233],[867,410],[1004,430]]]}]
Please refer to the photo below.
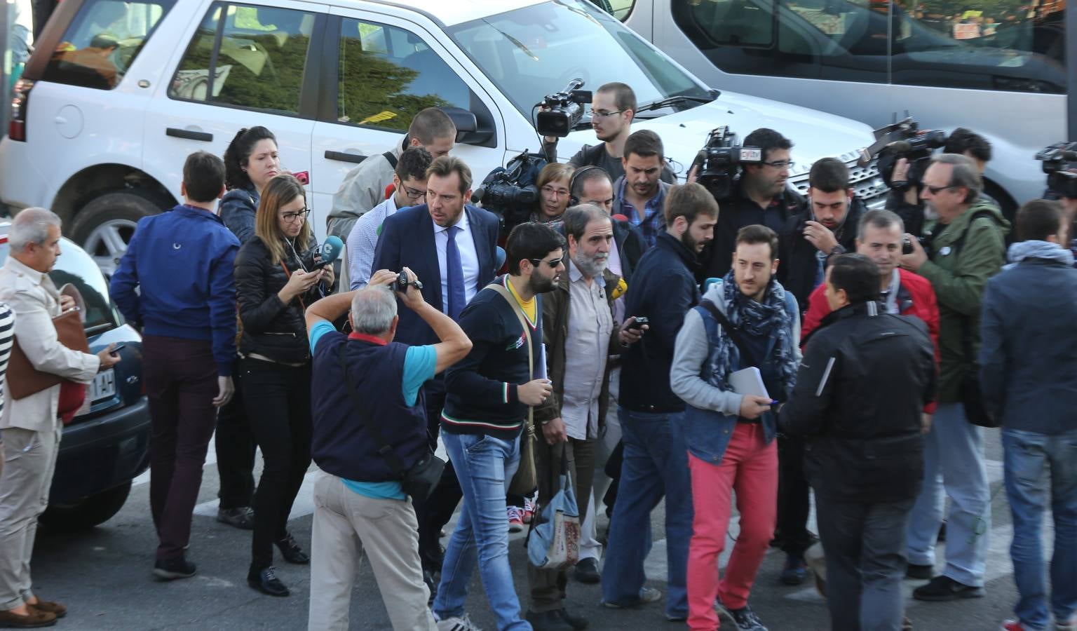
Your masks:
[{"label": "black jacket of man with back turned, beside man in pink trousers", "polygon": [[927,325],[862,303],[823,326],[779,418],[783,432],[808,437],[808,480],[816,493],[848,502],[915,497],[924,475],[921,413],[936,385]]}]

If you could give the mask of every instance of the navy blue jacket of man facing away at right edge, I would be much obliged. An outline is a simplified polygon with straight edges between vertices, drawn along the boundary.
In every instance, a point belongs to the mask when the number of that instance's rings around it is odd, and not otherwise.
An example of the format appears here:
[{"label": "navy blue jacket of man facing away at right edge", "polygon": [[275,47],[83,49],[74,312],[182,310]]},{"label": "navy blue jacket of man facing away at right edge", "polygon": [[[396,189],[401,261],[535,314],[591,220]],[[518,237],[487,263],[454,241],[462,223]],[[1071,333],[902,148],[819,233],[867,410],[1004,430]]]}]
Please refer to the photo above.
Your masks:
[{"label": "navy blue jacket of man facing away at right edge", "polygon": [[1077,430],[1077,269],[1025,258],[990,279],[980,314],[980,391],[1004,427]]}]

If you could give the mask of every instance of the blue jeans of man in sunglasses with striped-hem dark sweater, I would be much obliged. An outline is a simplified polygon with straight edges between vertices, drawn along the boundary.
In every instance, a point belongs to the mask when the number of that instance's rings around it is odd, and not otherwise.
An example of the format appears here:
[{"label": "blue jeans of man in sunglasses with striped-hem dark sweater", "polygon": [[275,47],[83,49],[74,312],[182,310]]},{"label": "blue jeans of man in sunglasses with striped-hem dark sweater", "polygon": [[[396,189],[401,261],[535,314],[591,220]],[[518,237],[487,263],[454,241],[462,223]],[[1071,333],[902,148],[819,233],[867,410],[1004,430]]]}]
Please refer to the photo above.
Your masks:
[{"label": "blue jeans of man in sunglasses with striped-hem dark sweater", "polygon": [[434,614],[439,620],[464,615],[467,583],[477,560],[498,629],[530,630],[531,625],[520,618],[520,601],[508,566],[505,518],[505,492],[520,465],[520,439],[442,432],[442,440],[456,467],[464,499],[460,521],[445,550]]}]

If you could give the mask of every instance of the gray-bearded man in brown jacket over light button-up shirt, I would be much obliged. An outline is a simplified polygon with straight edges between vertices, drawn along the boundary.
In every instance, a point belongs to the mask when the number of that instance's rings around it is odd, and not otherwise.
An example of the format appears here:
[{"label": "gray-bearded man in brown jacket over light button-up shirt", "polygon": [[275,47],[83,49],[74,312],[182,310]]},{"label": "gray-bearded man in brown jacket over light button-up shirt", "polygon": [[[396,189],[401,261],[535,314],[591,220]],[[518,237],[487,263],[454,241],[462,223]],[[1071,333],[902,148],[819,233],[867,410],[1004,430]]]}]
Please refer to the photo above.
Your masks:
[{"label": "gray-bearded man in brown jacket over light button-up shirt", "polygon": [[[613,243],[613,224],[592,204],[574,206],[562,215],[569,242],[565,272],[543,298],[543,343],[553,394],[534,411],[544,440],[535,449],[538,505],[557,492],[551,467],[560,466],[562,452],[572,472],[583,521],[595,473],[595,447],[610,403],[610,352],[618,327],[613,317],[612,290],[620,280],[606,268]],[[633,335],[639,336],[638,332]],[[528,565],[531,608],[527,619],[535,631],[584,629],[587,620],[564,609],[564,570]]]}]

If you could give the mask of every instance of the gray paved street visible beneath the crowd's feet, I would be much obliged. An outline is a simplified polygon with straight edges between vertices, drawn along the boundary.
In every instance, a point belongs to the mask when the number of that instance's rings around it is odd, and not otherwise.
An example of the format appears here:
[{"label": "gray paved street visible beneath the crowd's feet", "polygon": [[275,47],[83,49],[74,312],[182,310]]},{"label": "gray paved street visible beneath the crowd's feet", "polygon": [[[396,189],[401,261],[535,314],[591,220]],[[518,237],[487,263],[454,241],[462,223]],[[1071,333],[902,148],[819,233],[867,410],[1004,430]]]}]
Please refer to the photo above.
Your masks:
[{"label": "gray paved street visible beneath the crowd's feet", "polygon": [[[212,447],[210,454],[212,455]],[[1016,598],[1008,558],[1010,543],[1009,509],[1002,486],[1002,459],[998,432],[989,432],[988,458],[993,502],[991,553],[988,560],[988,597],[959,603],[921,603],[909,601],[908,615],[918,630],[987,631],[997,629],[1009,615]],[[311,478],[308,474],[308,480]],[[149,511],[146,478],[137,486],[124,509],[94,531],[60,535],[42,531],[33,558],[34,589],[45,599],[68,605],[70,614],[57,628],[79,630],[115,629],[305,629],[309,571],[289,565],[278,557],[280,578],[292,595],[275,599],[247,586],[250,560],[250,533],[218,523],[216,467],[205,469],[202,491],[194,518],[190,558],[198,564],[196,577],[174,583],[153,579],[153,551],[156,539]],[[304,487],[296,502],[291,530],[308,547],[311,527],[310,487]],[[661,507],[654,519],[654,550],[647,562],[648,585],[665,589],[665,539]],[[604,529],[605,520],[601,520]],[[731,529],[730,543],[736,536]],[[522,536],[514,535],[512,565],[517,592],[527,606],[526,556]],[[940,555],[941,558],[941,555]],[[752,604],[772,631],[824,630],[828,618],[824,601],[809,585],[785,587],[779,584],[782,556],[771,551],[759,573]],[[918,584],[907,581],[907,591]],[[493,617],[482,595],[476,572],[472,581],[468,612],[481,628],[495,629]],[[570,608],[588,616],[595,630],[683,629],[667,622],[661,608],[649,605],[639,611],[615,611],[599,605],[598,586],[570,581]],[[368,565],[360,572],[352,599],[353,629],[390,629],[384,607]],[[724,628],[728,628],[728,625]]]}]

